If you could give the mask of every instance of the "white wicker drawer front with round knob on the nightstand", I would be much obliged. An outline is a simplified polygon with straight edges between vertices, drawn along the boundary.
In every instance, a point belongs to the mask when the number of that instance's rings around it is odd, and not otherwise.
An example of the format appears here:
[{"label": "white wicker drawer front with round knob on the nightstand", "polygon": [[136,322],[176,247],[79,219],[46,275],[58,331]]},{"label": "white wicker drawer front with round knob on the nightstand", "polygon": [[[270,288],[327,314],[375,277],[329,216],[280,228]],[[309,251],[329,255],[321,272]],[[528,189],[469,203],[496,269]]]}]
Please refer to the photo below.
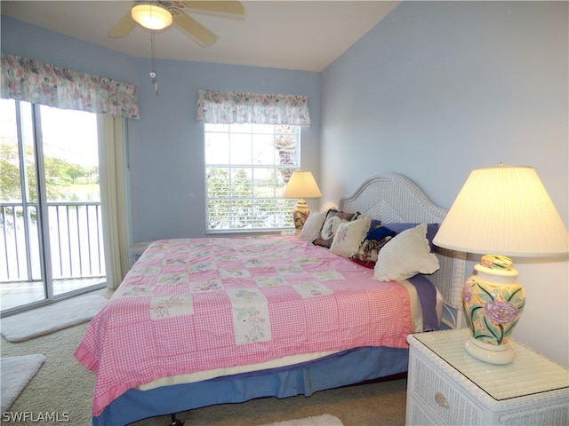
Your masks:
[{"label": "white wicker drawer front with round knob on the nightstand", "polygon": [[[421,358],[413,360],[413,394],[444,424],[482,424],[483,411],[469,401],[450,377],[433,370]],[[454,382],[454,383],[453,383]]]}]

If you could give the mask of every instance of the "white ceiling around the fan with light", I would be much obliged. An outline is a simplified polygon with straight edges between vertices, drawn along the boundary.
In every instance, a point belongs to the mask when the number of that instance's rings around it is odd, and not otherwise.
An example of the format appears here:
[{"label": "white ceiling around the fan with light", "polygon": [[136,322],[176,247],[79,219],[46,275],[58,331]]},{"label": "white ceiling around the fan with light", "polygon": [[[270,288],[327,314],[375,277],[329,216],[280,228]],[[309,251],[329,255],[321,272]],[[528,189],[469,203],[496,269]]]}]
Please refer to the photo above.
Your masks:
[{"label": "white ceiling around the fan with light", "polygon": [[[219,37],[200,47],[178,28],[156,32],[156,57],[322,71],[401,2],[244,1],[244,19],[192,12]],[[108,31],[133,1],[2,1],[2,14],[134,57],[150,56],[150,32]]]}]

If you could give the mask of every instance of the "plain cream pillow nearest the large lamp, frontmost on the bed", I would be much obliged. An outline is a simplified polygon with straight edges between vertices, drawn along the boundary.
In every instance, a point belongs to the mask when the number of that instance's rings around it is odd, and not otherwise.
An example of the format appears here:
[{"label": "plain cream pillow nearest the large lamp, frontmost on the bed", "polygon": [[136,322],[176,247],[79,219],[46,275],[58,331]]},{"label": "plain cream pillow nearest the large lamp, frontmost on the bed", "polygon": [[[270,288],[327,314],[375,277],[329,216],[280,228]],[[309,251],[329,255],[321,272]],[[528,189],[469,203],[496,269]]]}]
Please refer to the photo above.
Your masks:
[{"label": "plain cream pillow nearest the large lamp, frontmost on the bed", "polygon": [[397,234],[383,248],[375,264],[373,278],[378,281],[407,280],[418,273],[439,268],[437,256],[430,252],[427,224]]}]

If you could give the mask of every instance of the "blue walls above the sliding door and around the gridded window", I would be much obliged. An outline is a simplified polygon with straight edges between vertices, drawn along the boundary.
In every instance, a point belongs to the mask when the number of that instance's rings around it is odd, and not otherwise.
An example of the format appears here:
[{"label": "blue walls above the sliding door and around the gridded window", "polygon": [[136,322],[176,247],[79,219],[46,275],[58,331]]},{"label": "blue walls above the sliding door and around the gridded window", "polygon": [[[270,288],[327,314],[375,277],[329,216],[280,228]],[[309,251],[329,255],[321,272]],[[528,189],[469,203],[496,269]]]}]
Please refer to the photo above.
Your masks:
[{"label": "blue walls above the sliding door and around the gridded window", "polygon": [[140,120],[128,121],[131,240],[205,235],[200,89],[304,94],[312,125],[301,131],[301,166],[319,173],[320,75],[263,67],[132,58],[2,16],[2,51],[138,85]]}]

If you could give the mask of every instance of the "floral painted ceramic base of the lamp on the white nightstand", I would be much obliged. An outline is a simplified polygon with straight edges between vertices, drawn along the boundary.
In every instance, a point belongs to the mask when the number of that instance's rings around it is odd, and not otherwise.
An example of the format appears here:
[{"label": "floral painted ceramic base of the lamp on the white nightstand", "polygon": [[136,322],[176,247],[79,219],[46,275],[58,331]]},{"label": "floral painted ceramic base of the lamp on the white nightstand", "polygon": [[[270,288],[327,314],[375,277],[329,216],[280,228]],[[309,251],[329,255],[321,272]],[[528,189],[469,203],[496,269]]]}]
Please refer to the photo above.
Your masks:
[{"label": "floral painted ceramic base of the lamp on the white nightstand", "polygon": [[462,296],[472,337],[464,346],[476,359],[509,364],[514,351],[508,340],[525,306],[524,288],[509,257],[486,255],[475,266],[477,275],[464,284]]}]

